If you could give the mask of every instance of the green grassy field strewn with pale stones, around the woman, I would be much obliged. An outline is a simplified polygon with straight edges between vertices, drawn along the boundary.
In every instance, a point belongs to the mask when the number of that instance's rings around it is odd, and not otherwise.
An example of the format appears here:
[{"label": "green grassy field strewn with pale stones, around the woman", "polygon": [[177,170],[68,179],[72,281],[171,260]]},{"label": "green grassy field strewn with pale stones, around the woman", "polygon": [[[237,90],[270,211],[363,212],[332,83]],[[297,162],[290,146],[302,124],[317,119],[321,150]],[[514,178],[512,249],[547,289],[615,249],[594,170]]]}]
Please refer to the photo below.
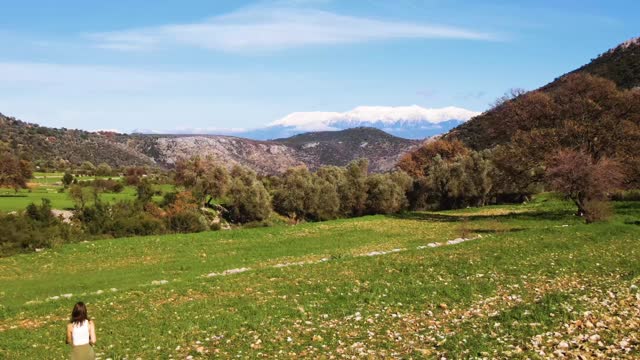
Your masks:
[{"label": "green grassy field strewn with pale stones, around the woman", "polygon": [[543,195],[3,258],[0,358],[67,358],[78,300],[101,359],[640,357],[640,203],[572,212]]}]

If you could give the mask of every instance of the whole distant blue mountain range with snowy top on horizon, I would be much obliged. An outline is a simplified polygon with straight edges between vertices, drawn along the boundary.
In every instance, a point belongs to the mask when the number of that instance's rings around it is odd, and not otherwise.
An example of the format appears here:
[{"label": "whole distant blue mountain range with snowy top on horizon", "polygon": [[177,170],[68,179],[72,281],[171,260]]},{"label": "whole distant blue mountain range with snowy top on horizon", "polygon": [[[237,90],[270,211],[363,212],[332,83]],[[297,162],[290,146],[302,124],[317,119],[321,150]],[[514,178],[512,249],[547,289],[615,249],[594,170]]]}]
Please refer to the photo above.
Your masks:
[{"label": "whole distant blue mountain range with snowy top on horizon", "polygon": [[426,109],[412,106],[359,106],[346,112],[294,112],[267,126],[255,129],[136,130],[141,134],[233,135],[270,140],[315,131],[337,131],[370,127],[406,139],[425,139],[446,133],[479,112],[445,107]]}]

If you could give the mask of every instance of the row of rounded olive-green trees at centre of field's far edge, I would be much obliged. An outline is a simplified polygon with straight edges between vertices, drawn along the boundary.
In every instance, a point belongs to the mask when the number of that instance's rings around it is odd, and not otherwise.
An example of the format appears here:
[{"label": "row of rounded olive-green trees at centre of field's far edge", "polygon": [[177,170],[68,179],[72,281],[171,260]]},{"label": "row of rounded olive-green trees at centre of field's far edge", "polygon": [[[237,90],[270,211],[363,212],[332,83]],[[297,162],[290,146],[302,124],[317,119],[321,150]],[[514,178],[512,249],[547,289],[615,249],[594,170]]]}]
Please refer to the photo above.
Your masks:
[{"label": "row of rounded olive-green trees at centre of field's far edge", "polygon": [[412,186],[402,171],[369,174],[367,160],[315,173],[295,167],[260,178],[243,167],[228,171],[214,159],[196,157],[178,161],[175,179],[203,205],[237,223],[265,220],[272,210],[296,222],[394,213],[407,208]]}]

